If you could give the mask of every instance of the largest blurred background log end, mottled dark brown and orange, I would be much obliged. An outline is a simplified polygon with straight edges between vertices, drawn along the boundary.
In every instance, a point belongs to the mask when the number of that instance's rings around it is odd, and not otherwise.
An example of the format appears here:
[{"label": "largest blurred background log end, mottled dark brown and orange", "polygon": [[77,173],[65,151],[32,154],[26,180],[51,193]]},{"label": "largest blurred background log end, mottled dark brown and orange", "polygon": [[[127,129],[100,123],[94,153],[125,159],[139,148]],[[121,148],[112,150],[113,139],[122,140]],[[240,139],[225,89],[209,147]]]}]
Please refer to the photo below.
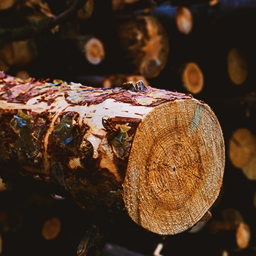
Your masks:
[{"label": "largest blurred background log end, mottled dark brown and orange", "polygon": [[122,24],[118,37],[127,58],[146,78],[155,78],[164,69],[169,39],[162,24],[151,16],[139,16]]}]

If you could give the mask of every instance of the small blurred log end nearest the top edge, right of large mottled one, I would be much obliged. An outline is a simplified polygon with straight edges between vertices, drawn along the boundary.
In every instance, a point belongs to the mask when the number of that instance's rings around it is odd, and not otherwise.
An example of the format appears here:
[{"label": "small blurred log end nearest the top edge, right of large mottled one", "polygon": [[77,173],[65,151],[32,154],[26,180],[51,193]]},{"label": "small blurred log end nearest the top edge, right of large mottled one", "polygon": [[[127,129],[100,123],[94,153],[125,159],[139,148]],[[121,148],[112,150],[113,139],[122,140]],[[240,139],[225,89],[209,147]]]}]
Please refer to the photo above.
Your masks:
[{"label": "small blurred log end nearest the top edge, right of large mottled one", "polygon": [[177,7],[176,24],[178,31],[182,34],[189,34],[193,27],[193,16],[186,7]]}]

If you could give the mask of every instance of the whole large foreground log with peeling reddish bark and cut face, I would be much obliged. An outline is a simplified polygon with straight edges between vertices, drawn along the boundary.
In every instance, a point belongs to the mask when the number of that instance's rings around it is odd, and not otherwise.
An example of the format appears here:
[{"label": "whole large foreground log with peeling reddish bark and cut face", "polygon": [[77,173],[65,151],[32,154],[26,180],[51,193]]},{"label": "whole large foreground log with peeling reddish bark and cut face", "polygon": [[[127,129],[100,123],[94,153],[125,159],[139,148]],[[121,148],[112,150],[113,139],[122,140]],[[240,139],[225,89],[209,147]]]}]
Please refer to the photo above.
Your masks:
[{"label": "whole large foreground log with peeling reddish bark and cut face", "polygon": [[181,233],[219,195],[225,165],[217,117],[192,95],[95,89],[1,73],[1,178],[61,184],[91,214],[125,207],[153,233]]}]

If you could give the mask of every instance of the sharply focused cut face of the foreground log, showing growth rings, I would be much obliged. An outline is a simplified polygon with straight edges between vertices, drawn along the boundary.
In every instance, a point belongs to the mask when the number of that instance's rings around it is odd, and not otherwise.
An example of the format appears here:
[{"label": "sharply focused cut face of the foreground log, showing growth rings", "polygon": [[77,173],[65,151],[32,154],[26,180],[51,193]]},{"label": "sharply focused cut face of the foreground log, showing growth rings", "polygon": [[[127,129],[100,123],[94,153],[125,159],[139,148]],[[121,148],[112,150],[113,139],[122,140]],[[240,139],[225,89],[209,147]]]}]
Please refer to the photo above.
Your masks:
[{"label": "sharply focused cut face of the foreground log, showing growth rings", "polygon": [[140,122],[124,179],[129,216],[153,233],[188,230],[219,195],[225,165],[216,116],[196,99],[157,106]]}]

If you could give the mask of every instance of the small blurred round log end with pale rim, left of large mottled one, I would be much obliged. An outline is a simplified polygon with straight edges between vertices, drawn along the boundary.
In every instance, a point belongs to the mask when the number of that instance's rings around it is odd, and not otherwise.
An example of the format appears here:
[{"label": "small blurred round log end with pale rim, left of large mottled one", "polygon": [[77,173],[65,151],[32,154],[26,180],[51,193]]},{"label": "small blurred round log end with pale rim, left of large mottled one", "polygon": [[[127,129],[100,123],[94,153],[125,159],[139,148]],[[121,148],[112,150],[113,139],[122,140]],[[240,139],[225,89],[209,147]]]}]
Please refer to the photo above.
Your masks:
[{"label": "small blurred round log end with pale rim, left of large mottled one", "polygon": [[96,37],[89,39],[84,45],[84,53],[90,64],[100,64],[105,59],[105,49],[102,42]]}]

